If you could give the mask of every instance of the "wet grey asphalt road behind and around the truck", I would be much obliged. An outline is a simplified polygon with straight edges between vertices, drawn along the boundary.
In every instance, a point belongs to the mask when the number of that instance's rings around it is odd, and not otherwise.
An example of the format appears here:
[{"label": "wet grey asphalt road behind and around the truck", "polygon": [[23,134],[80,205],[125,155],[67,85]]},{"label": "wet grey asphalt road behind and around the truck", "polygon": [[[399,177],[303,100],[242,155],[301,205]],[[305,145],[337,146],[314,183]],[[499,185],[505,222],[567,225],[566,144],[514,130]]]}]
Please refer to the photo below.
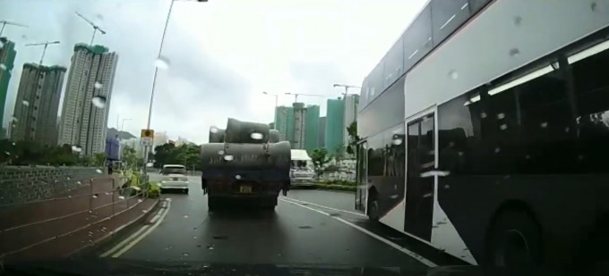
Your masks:
[{"label": "wet grey asphalt road behind and around the truck", "polygon": [[199,178],[189,177],[187,195],[163,194],[167,207],[159,208],[145,229],[133,230],[95,254],[153,262],[399,266],[413,271],[436,264],[437,256],[430,259],[404,248],[407,238],[374,230],[353,210],[353,194],[293,190],[279,198],[274,212],[209,213]]}]

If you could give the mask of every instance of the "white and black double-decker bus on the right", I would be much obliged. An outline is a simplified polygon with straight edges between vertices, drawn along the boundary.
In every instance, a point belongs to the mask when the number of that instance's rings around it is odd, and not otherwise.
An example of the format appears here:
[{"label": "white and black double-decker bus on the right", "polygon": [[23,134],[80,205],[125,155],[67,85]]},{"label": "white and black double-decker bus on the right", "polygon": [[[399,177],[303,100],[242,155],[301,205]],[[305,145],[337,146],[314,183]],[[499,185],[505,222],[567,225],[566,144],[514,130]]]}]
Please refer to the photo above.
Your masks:
[{"label": "white and black double-decker bus on the right", "polygon": [[429,1],[362,85],[356,208],[467,263],[609,260],[608,26],[609,0]]}]

